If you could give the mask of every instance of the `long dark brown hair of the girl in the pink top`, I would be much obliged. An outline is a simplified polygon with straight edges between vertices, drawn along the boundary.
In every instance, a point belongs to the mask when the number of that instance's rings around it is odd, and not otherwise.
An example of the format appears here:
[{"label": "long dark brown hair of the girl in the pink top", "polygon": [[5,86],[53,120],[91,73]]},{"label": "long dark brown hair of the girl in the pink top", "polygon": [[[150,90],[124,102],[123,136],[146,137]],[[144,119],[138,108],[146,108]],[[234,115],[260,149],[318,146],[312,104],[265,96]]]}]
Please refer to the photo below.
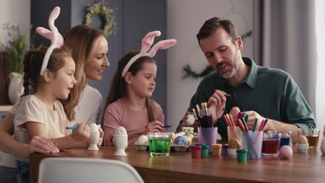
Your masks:
[{"label": "long dark brown hair of the girl in the pink top", "polygon": [[[106,104],[105,104],[105,110],[110,103],[114,103],[117,101],[118,98],[121,98],[123,96],[127,96],[127,89],[126,89],[126,82],[124,78],[122,78],[122,71],[125,67],[125,65],[128,63],[128,61],[131,60],[135,55],[137,55],[139,51],[132,51],[126,53],[121,60],[119,60],[119,63],[117,65],[117,70],[115,71],[113,80],[110,84],[110,92],[108,93],[107,99],[106,99]],[[144,56],[141,58],[138,58],[128,69],[128,72],[132,74],[132,76],[135,76],[138,71],[140,71],[143,67],[144,63],[153,63],[156,64],[155,60],[149,56]],[[154,120],[153,117],[153,110],[152,110],[152,103],[153,100],[150,98],[146,98],[146,107],[148,110],[148,119],[149,122]]]}]

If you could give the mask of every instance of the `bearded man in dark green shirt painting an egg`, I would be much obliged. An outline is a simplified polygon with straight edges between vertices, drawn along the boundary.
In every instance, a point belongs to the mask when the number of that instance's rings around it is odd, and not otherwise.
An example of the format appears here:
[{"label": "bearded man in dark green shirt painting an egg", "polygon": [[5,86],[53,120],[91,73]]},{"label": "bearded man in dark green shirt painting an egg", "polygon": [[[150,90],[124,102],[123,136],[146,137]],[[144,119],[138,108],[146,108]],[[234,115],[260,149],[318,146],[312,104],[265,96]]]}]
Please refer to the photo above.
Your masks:
[{"label": "bearded man in dark green shirt painting an egg", "polygon": [[210,104],[212,122],[225,140],[227,128],[222,115],[235,106],[248,114],[249,130],[256,119],[256,129],[267,119],[264,131],[291,131],[292,143],[298,139],[298,128],[315,128],[313,112],[288,73],[257,66],[251,58],[242,57],[242,38],[231,21],[208,19],[197,33],[197,40],[215,72],[201,80],[178,130],[188,126],[186,116],[203,102]]}]

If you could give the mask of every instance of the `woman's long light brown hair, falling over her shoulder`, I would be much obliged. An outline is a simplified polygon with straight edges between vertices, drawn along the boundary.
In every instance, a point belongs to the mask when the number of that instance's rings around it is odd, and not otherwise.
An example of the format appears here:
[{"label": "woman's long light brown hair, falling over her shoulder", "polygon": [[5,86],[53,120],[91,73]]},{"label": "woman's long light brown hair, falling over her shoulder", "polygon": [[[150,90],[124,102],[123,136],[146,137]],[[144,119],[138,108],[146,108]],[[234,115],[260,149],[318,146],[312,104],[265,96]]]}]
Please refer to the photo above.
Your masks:
[{"label": "woman's long light brown hair, falling over her shoulder", "polygon": [[76,85],[70,91],[69,97],[61,101],[69,121],[75,119],[76,112],[74,112],[74,107],[78,105],[83,89],[87,85],[87,77],[84,71],[85,64],[92,58],[94,44],[101,36],[104,36],[101,31],[85,25],[75,26],[65,35],[65,46],[72,50],[72,58],[76,62],[74,78],[77,80]]}]

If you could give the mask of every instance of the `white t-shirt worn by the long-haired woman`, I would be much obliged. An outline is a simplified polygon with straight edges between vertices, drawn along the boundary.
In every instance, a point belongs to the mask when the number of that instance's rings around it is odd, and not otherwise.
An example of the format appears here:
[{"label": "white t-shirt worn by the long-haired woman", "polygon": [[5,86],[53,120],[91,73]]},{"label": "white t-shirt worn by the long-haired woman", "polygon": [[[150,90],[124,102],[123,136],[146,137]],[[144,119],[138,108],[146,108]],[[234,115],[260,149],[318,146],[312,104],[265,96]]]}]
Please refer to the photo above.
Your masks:
[{"label": "white t-shirt worn by the long-haired woman", "polygon": [[74,121],[70,121],[68,125],[73,126],[77,122],[88,123],[88,125],[98,123],[102,103],[103,97],[101,93],[97,89],[90,87],[90,85],[86,85],[78,101],[78,105],[74,108],[76,118]]}]

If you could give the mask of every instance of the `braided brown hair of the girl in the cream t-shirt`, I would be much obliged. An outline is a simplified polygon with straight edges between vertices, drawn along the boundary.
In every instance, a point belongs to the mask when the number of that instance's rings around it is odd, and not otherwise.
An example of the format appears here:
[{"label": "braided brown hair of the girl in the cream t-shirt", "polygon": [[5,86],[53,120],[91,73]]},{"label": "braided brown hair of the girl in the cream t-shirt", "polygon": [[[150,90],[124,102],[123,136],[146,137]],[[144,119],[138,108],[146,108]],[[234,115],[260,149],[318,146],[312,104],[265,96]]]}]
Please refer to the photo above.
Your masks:
[{"label": "braided brown hair of the girl in the cream t-shirt", "polygon": [[[29,94],[30,87],[32,87],[33,92],[37,92],[42,82],[40,69],[46,52],[47,49],[42,48],[40,50],[31,50],[26,53],[24,58],[24,94],[22,94],[22,96]],[[67,46],[63,46],[60,49],[53,49],[49,58],[49,63],[47,64],[47,69],[56,76],[58,70],[65,66],[65,58],[67,57],[72,58],[72,53]],[[72,98],[74,98],[74,96],[72,96]],[[70,111],[68,110],[67,112]]]}]

